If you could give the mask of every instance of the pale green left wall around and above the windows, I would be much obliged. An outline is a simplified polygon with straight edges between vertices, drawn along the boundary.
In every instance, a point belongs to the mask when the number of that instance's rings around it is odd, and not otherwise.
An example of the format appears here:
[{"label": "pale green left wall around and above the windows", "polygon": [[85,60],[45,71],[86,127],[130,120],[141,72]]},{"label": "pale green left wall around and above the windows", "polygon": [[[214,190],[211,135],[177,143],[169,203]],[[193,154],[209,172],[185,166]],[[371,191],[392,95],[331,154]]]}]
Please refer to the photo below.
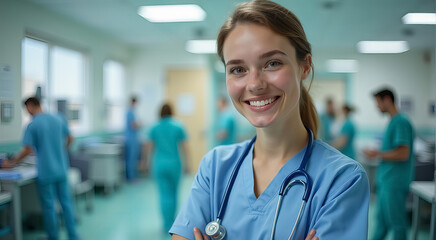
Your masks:
[{"label": "pale green left wall around and above the windows", "polygon": [[[101,106],[103,63],[115,58],[130,64],[132,50],[114,37],[100,33],[65,17],[48,12],[25,1],[0,1],[0,64],[9,65],[13,70],[14,119],[0,124],[0,143],[19,141],[21,127],[21,41],[31,32],[40,38],[57,42],[64,46],[81,49],[88,56],[89,81],[87,92],[90,103],[91,129],[103,129]],[[129,72],[129,71],[128,71]]]}]

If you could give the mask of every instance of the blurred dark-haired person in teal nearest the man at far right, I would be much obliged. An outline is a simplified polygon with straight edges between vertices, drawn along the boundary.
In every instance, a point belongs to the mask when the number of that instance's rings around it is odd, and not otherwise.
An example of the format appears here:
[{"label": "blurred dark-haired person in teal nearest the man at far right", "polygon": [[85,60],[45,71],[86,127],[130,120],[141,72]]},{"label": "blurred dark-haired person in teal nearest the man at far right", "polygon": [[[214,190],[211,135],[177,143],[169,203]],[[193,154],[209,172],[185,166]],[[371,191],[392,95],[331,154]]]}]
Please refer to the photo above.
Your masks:
[{"label": "blurred dark-haired person in teal nearest the man at far right", "polygon": [[342,106],[342,114],[344,122],[342,124],[339,136],[332,141],[332,146],[337,148],[349,158],[356,159],[356,151],[354,149],[354,138],[356,136],[356,125],[353,123],[350,114],[354,108],[345,104]]}]

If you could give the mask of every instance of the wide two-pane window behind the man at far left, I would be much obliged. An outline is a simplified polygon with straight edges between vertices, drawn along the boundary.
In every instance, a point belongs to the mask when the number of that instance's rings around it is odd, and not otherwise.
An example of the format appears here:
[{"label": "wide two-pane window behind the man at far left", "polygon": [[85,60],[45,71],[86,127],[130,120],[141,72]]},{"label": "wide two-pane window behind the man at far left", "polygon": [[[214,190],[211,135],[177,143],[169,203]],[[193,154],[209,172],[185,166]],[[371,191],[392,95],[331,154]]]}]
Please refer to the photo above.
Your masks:
[{"label": "wide two-pane window behind the man at far left", "polygon": [[[23,97],[37,95],[45,111],[60,112],[73,133],[88,130],[86,58],[79,51],[25,38],[23,48]],[[23,114],[23,124],[29,116]]]}]

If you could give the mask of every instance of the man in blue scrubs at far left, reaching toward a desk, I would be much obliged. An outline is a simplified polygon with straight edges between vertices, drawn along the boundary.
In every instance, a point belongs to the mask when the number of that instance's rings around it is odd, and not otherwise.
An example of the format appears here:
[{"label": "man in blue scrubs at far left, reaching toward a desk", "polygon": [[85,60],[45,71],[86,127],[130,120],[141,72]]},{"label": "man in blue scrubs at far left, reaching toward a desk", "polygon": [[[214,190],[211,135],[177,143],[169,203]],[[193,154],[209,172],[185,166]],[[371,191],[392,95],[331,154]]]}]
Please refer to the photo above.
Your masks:
[{"label": "man in blue scrubs at far left, reaching toward a desk", "polygon": [[13,167],[32,151],[36,154],[37,190],[49,240],[59,239],[56,199],[62,207],[62,216],[68,238],[76,240],[76,220],[68,183],[67,148],[73,141],[65,118],[44,113],[37,98],[28,98],[24,105],[32,115],[23,138],[23,150],[17,157],[2,162],[3,168]]}]

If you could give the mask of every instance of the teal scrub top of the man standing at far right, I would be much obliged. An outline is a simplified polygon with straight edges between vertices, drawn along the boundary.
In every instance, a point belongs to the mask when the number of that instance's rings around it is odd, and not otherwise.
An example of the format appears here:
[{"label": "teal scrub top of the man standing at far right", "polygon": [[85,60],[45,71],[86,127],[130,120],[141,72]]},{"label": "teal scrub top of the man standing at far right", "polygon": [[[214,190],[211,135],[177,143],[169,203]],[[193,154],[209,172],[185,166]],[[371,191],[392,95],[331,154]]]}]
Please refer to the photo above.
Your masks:
[{"label": "teal scrub top of the man standing at far right", "polygon": [[395,115],[384,134],[381,151],[391,151],[398,146],[410,149],[407,161],[384,161],[377,167],[377,184],[408,187],[414,177],[413,139],[414,129],[409,119],[402,113]]}]

